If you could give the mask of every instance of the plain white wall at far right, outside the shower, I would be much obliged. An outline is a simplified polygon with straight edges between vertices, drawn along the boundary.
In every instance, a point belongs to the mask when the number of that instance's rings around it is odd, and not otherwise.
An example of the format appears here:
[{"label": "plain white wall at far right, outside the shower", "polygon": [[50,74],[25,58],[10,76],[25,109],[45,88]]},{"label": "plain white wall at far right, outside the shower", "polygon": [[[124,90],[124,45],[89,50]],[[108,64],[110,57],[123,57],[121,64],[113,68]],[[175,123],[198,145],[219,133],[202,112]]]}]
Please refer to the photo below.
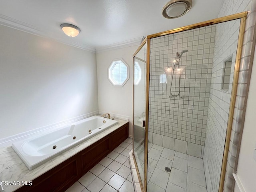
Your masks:
[{"label": "plain white wall at far right, outside the shower", "polygon": [[[255,108],[256,108],[256,51],[252,66],[252,76],[247,100],[244,131],[238,159],[236,174],[240,178],[246,192],[254,192],[256,189],[255,174],[256,160],[253,159],[253,152],[256,144]],[[239,190],[237,190],[239,191]]]}]

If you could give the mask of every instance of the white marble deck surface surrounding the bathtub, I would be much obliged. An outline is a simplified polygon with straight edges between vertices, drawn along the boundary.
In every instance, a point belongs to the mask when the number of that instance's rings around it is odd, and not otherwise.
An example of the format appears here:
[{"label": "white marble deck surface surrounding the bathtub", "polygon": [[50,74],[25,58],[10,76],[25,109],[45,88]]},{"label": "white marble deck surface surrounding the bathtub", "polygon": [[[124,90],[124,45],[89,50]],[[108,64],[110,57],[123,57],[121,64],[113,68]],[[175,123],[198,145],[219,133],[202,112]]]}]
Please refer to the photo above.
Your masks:
[{"label": "white marble deck surface surrounding the bathtub", "polygon": [[93,138],[74,146],[73,148],[61,153],[60,155],[50,159],[48,162],[42,164],[41,166],[35,168],[34,170],[28,170],[23,161],[14,152],[11,146],[0,148],[0,181],[19,181],[20,185],[4,185],[5,192],[12,192],[22,187],[21,182],[32,181],[38,176],[44,174],[48,170],[54,168],[58,164],[64,162],[68,158],[74,156],[78,152],[82,151],[84,148],[90,146],[97,140],[100,140],[104,136],[110,134],[114,130],[120,128],[128,121],[118,120],[118,124],[108,128],[107,130],[97,134]]}]

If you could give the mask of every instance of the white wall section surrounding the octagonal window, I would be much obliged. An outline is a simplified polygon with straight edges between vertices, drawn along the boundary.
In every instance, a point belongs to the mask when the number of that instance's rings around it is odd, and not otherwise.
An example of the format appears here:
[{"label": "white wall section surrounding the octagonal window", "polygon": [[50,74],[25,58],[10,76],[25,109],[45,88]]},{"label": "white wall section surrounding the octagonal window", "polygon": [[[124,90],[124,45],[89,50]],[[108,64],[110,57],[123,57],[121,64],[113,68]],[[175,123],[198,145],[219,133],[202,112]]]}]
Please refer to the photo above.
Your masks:
[{"label": "white wall section surrounding the octagonal window", "polygon": [[[132,136],[132,55],[138,46],[97,53],[99,112],[129,116],[129,136]],[[123,87],[113,86],[108,80],[112,60],[122,58],[129,65],[129,80]]]}]

